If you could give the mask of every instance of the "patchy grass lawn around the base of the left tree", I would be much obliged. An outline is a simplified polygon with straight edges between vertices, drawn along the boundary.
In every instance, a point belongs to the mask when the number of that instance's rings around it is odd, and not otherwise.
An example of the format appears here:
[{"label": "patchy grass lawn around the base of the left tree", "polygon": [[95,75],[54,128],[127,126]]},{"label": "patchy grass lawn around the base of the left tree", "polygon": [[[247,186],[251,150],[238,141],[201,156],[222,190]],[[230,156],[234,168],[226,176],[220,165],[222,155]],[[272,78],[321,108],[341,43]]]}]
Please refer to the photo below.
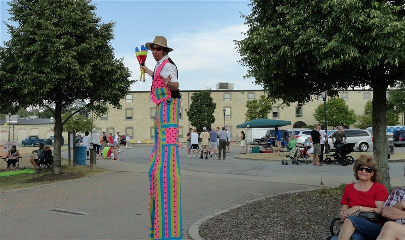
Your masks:
[{"label": "patchy grass lawn around the base of the left tree", "polygon": [[[1,147],[1,146],[0,146]],[[32,156],[32,150],[38,147],[17,147],[22,159],[20,160],[20,168],[29,168],[31,163],[29,157]],[[67,147],[62,147],[62,151],[67,151]],[[2,157],[6,153],[1,154]],[[72,162],[73,164],[73,162]],[[1,159],[0,172],[6,171],[7,163]],[[53,175],[52,172],[41,172],[33,174],[18,174],[12,176],[0,177],[0,191],[9,191],[33,186],[40,186],[49,183],[62,182],[67,180],[79,179],[83,177],[93,176],[100,173],[108,172],[110,170],[97,168],[94,171],[90,170],[90,166],[76,166],[68,165],[67,159],[62,159],[61,174]]]}]

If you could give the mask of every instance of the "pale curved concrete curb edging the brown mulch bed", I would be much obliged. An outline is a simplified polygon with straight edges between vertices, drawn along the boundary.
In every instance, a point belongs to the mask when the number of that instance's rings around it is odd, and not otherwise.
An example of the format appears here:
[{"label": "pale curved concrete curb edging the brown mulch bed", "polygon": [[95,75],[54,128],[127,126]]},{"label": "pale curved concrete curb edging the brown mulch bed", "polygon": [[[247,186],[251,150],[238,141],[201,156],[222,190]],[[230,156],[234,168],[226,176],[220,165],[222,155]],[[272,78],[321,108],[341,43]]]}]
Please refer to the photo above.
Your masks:
[{"label": "pale curved concrete curb edging the brown mulch bed", "polygon": [[[314,190],[314,189],[313,189],[313,190]],[[287,191],[287,192],[283,192],[283,193],[280,193],[280,194],[297,193],[297,192],[303,192],[303,191],[311,191],[311,190]],[[200,234],[199,234],[199,229],[200,229],[200,226],[201,226],[201,224],[202,224],[203,222],[205,222],[205,221],[207,221],[207,220],[209,220],[209,219],[211,219],[211,218],[213,218],[213,217],[215,217],[215,216],[221,215],[222,213],[225,213],[225,212],[228,212],[228,211],[230,211],[230,210],[233,210],[233,209],[235,209],[235,208],[238,208],[238,207],[247,205],[247,204],[252,203],[252,202],[255,202],[255,201],[260,201],[260,200],[264,200],[264,199],[269,198],[269,197],[277,196],[277,195],[280,195],[280,194],[274,194],[274,195],[269,195],[269,196],[267,196],[267,197],[260,197],[260,198],[257,198],[257,199],[245,201],[245,202],[243,202],[243,203],[241,203],[241,204],[237,204],[237,205],[228,207],[228,208],[223,209],[223,210],[220,210],[220,211],[218,211],[218,212],[216,212],[216,213],[214,213],[214,214],[211,214],[211,215],[209,215],[209,216],[203,217],[203,218],[197,220],[196,222],[194,222],[193,224],[191,224],[191,226],[190,226],[190,227],[188,228],[188,230],[187,230],[187,234],[188,234],[188,236],[189,236],[191,239],[193,239],[193,240],[204,240],[204,238],[202,238],[202,237],[200,236]]]}]

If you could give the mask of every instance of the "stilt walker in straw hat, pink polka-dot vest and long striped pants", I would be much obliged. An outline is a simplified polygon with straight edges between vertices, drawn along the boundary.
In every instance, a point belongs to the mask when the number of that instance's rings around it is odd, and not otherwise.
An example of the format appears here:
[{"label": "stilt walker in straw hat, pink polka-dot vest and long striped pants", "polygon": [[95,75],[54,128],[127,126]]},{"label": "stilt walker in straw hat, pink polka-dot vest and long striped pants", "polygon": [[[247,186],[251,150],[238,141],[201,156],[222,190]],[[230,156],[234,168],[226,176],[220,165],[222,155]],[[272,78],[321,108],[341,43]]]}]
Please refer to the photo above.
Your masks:
[{"label": "stilt walker in straw hat, pink polka-dot vest and long striped pants", "polygon": [[[177,144],[181,98],[178,72],[176,65],[169,58],[168,54],[173,49],[167,46],[165,37],[156,36],[153,42],[148,42],[145,46],[151,50],[156,60],[153,71],[141,66],[153,78],[150,95],[152,102],[156,104],[155,145],[150,157],[149,171],[149,236],[151,239],[183,239]],[[165,161],[160,162],[161,159]],[[166,173],[169,168],[171,170]],[[165,177],[161,177],[163,173]],[[168,207],[162,212],[164,206]]]}]

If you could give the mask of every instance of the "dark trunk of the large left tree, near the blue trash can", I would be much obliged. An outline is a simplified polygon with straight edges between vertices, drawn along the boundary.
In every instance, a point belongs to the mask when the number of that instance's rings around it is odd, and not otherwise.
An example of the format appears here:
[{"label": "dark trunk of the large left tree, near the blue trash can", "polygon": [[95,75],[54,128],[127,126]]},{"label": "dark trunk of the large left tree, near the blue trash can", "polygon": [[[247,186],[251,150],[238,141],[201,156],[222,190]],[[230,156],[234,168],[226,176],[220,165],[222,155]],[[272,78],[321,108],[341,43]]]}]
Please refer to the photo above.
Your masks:
[{"label": "dark trunk of the large left tree, near the blue trash can", "polygon": [[55,127],[54,135],[55,135],[55,147],[53,148],[53,174],[58,175],[60,174],[61,167],[62,167],[62,133],[63,133],[63,125],[62,125],[62,106],[60,103],[56,102],[55,104]]}]

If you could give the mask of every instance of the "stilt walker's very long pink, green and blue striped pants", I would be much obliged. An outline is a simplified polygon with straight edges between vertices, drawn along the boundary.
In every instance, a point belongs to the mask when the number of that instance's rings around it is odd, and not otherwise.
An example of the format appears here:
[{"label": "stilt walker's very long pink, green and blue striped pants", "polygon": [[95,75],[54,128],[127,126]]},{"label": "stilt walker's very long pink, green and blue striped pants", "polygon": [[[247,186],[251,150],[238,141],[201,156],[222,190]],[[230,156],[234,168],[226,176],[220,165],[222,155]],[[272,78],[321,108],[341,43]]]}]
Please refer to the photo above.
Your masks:
[{"label": "stilt walker's very long pink, green and blue striped pants", "polygon": [[180,99],[156,105],[149,162],[150,239],[183,239],[178,149]]}]

